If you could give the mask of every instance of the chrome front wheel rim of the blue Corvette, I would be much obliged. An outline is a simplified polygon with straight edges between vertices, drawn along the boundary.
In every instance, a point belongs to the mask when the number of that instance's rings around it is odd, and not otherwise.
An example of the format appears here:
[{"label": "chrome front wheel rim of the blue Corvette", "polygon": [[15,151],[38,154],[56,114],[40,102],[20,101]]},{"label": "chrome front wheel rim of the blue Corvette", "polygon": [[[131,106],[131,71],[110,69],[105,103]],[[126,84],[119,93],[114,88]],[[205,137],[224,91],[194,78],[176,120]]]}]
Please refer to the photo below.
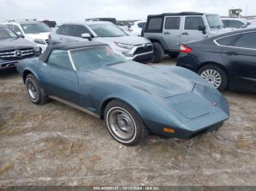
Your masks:
[{"label": "chrome front wheel rim of the blue Corvette", "polygon": [[[136,124],[132,115],[121,107],[113,107],[108,111],[107,123],[110,133],[119,141],[129,140],[135,137]],[[121,140],[120,140],[121,139]]]}]

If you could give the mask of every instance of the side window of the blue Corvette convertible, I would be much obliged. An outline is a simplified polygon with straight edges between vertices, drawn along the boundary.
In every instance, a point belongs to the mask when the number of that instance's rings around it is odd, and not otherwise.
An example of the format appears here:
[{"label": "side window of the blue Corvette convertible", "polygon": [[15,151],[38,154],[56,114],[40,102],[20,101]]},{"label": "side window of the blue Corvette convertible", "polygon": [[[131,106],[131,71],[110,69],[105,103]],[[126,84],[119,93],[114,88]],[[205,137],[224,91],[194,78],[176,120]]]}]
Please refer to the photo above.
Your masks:
[{"label": "side window of the blue Corvette convertible", "polygon": [[57,69],[68,69],[72,70],[72,65],[67,55],[67,50],[53,50],[47,61],[49,66]]}]

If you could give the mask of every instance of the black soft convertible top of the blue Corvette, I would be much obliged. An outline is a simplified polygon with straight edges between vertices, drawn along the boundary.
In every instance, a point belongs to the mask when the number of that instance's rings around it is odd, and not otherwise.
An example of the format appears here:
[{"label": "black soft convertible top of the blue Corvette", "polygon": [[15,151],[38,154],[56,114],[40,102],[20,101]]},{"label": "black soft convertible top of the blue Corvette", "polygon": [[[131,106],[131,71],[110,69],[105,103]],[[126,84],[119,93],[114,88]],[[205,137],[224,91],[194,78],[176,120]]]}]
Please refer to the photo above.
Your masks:
[{"label": "black soft convertible top of the blue Corvette", "polygon": [[72,50],[83,47],[97,47],[102,45],[108,44],[104,44],[102,42],[69,42],[64,44],[52,44],[46,48],[42,55],[39,56],[39,59],[46,62],[52,50]]}]

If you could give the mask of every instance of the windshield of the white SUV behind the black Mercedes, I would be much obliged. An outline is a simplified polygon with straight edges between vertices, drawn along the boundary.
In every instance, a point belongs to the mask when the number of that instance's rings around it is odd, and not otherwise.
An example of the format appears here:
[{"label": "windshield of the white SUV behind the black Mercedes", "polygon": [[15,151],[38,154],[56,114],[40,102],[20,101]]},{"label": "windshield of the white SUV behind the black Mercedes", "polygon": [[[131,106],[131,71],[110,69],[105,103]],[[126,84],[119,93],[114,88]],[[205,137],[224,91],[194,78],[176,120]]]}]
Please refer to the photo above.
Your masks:
[{"label": "windshield of the white SUV behind the black Mercedes", "polygon": [[20,26],[25,34],[38,34],[50,32],[50,28],[45,23],[29,23],[21,24]]}]

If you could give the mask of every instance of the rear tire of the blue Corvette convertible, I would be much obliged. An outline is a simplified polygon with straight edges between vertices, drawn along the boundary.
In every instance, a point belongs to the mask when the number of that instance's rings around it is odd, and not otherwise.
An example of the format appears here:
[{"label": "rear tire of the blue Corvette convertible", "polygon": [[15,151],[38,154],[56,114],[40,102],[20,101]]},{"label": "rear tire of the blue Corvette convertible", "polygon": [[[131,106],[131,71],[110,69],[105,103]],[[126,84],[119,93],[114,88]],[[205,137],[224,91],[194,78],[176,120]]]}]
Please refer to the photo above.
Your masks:
[{"label": "rear tire of the blue Corvette convertible", "polygon": [[[37,82],[36,77],[33,74],[28,74],[25,80],[26,90],[29,95],[29,99],[33,104],[45,104],[49,101],[48,96],[44,93],[39,83]],[[34,92],[36,95],[33,97],[29,90],[31,89],[30,85],[34,87]]]}]

